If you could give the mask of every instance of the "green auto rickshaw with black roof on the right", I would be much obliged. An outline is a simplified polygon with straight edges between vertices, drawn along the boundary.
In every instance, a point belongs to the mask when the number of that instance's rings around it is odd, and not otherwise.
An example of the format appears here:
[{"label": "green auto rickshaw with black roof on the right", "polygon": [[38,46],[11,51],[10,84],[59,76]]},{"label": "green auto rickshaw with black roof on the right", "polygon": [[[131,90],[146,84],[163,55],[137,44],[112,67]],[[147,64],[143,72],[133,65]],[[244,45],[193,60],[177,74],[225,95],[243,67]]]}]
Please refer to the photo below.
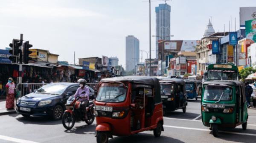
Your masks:
[{"label": "green auto rickshaw with black roof on the right", "polygon": [[247,101],[241,81],[215,80],[203,84],[201,115],[204,126],[218,136],[219,128],[247,128]]}]

